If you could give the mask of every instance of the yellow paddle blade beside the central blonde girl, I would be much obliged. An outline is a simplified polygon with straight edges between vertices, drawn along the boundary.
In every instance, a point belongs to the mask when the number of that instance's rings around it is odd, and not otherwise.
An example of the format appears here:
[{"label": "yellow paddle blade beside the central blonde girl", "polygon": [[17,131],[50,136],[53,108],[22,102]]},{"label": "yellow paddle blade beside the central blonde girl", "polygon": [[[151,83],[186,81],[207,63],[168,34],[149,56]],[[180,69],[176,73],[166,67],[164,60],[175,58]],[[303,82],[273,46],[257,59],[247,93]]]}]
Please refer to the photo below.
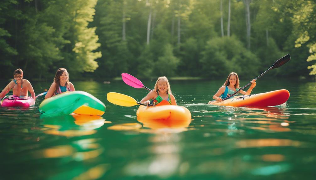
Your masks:
[{"label": "yellow paddle blade beside the central blonde girl", "polygon": [[137,105],[137,101],[131,96],[127,96],[125,94],[120,93],[107,93],[107,100],[110,103],[119,105],[119,106],[135,106]]}]

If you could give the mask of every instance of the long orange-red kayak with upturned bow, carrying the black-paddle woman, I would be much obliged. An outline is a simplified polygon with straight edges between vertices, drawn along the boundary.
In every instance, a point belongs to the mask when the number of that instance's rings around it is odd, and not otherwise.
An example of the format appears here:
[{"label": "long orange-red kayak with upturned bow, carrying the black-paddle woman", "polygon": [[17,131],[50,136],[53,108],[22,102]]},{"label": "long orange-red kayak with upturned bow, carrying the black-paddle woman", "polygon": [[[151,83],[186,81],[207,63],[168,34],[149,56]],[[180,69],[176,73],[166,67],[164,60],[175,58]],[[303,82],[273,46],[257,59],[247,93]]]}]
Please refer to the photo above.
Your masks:
[{"label": "long orange-red kayak with upturned bow, carrying the black-paddle woman", "polygon": [[210,101],[211,105],[219,106],[251,106],[251,107],[268,107],[285,103],[290,97],[286,89],[270,91],[267,93],[250,94],[246,96],[234,96],[224,101]]}]

